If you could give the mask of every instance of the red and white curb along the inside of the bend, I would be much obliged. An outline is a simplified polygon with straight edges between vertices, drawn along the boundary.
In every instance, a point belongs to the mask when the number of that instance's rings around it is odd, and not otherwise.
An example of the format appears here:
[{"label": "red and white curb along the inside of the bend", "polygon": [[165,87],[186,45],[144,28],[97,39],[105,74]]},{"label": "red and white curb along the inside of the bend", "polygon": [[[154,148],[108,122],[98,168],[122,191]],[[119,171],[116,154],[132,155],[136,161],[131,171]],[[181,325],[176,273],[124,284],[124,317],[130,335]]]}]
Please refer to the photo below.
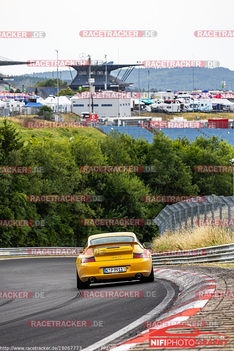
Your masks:
[{"label": "red and white curb along the inside of the bend", "polygon": [[[175,305],[167,312],[163,313],[155,322],[181,322],[187,320],[199,312],[209,301],[215,290],[214,279],[202,273],[179,271],[172,269],[155,269],[155,278],[170,280],[180,288],[180,294],[175,300]],[[209,296],[200,297],[200,291],[209,292]],[[151,327],[150,329],[160,329]],[[115,346],[115,350],[131,350],[136,346],[149,339],[149,329],[144,330],[134,338],[128,339]]]}]

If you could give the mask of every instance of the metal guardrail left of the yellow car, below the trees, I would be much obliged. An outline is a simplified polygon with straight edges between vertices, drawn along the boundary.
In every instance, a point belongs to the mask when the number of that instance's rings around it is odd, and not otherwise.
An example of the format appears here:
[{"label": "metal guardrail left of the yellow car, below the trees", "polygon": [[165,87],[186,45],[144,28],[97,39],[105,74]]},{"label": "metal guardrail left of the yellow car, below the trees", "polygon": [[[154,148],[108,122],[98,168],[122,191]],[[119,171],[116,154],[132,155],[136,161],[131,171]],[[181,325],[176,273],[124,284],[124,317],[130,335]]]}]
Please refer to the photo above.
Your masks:
[{"label": "metal guardrail left of the yellow car, below the trees", "polygon": [[75,247],[6,247],[0,248],[0,258],[8,256],[77,256]]}]

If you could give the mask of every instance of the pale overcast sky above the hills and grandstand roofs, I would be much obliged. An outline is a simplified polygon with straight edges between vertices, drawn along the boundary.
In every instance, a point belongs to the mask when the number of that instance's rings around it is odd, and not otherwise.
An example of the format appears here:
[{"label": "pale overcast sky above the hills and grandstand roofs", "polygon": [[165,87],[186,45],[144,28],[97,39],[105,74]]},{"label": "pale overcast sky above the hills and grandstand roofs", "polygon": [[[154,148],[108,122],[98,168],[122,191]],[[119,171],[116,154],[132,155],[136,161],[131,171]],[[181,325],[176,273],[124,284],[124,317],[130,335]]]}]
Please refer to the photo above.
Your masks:
[{"label": "pale overcast sky above the hills and grandstand roofs", "polygon": [[[233,38],[196,38],[196,30],[234,31],[234,1],[1,2],[0,31],[43,31],[45,38],[0,38],[0,55],[11,60],[94,60],[134,64],[145,60],[218,60],[234,70]],[[88,24],[89,23],[89,24]],[[82,38],[82,30],[155,30],[152,38]],[[55,70],[56,68],[54,68]],[[62,68],[64,69],[64,68]],[[50,67],[0,66],[5,74],[52,71]]]}]

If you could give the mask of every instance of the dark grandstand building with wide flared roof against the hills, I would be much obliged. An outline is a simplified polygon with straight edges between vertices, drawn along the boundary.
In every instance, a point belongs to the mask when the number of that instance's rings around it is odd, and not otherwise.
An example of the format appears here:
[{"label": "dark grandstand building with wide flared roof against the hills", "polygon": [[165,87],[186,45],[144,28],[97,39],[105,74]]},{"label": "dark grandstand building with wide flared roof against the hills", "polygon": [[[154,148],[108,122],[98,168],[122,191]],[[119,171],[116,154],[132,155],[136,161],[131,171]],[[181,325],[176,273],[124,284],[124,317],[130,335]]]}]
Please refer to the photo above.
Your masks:
[{"label": "dark grandstand building with wide flared roof against the hills", "polygon": [[[95,86],[95,91],[100,91],[105,89],[106,83],[106,76],[105,70],[107,70],[107,90],[118,91],[125,91],[126,87],[132,86],[133,83],[127,83],[125,80],[132,72],[135,66],[140,66],[139,64],[132,64],[132,65],[116,65],[113,62],[104,62],[102,65],[90,65],[91,69],[91,78],[94,78],[93,85]],[[71,84],[69,85],[71,89],[77,90],[79,86],[88,86],[89,85],[89,65],[81,66],[69,66],[74,68],[77,71],[76,77],[73,79]],[[128,68],[123,70],[122,78],[119,77],[122,68]],[[119,69],[118,75],[115,77],[111,75],[111,71],[115,71]]]}]

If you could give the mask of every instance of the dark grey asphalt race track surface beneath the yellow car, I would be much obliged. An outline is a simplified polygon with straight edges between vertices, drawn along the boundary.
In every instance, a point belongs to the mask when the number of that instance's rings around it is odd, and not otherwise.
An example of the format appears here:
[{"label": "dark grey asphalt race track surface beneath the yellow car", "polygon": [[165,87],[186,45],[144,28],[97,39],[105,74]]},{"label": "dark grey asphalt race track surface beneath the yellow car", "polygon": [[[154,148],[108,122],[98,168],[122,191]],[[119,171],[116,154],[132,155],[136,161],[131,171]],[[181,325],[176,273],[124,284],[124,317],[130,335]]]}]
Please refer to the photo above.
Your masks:
[{"label": "dark grey asphalt race track surface beneath the yellow car", "polygon": [[[145,284],[139,281],[91,284],[86,290],[124,291],[125,294],[141,291],[143,297],[82,297],[76,289],[75,261],[75,257],[0,260],[0,291],[33,293],[32,298],[0,298],[0,346],[80,346],[84,349],[159,305],[160,315],[178,295],[175,284],[155,279]],[[30,327],[30,320],[88,320],[91,326]],[[142,329],[143,325],[139,325],[134,332]],[[125,338],[129,335],[133,334],[128,332]]]}]

